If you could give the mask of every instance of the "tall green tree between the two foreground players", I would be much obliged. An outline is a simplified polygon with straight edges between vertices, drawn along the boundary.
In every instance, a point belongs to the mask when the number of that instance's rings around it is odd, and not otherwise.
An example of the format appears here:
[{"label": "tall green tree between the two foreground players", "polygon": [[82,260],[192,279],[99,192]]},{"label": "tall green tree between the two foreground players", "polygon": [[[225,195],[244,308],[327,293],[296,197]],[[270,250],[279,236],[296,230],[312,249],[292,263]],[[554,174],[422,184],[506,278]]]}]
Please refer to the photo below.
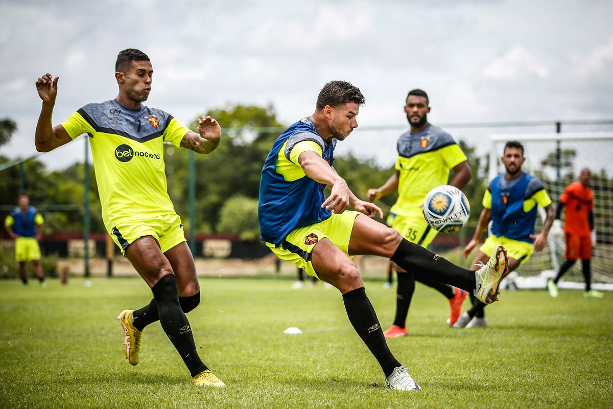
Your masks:
[{"label": "tall green tree between the two foreground players", "polygon": [[[222,137],[215,151],[196,155],[196,230],[218,232],[219,212],[227,199],[236,195],[257,199],[262,165],[285,128],[270,106],[238,104],[205,115],[219,121]],[[191,129],[196,128],[194,120]],[[165,155],[167,170],[172,169],[170,195],[185,220],[189,215],[188,155],[185,149],[167,149]]]}]

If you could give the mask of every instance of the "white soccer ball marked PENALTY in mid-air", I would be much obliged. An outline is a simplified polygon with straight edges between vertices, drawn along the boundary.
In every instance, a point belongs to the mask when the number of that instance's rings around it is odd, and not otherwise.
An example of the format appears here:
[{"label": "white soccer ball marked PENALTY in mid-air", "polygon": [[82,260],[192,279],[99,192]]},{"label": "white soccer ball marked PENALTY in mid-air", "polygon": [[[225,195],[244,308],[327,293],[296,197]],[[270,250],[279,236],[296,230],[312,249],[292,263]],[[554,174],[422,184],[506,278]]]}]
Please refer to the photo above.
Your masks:
[{"label": "white soccer ball marked PENALTY in mid-air", "polygon": [[443,233],[459,231],[468,221],[470,204],[455,186],[437,186],[424,200],[424,218],[428,225]]}]

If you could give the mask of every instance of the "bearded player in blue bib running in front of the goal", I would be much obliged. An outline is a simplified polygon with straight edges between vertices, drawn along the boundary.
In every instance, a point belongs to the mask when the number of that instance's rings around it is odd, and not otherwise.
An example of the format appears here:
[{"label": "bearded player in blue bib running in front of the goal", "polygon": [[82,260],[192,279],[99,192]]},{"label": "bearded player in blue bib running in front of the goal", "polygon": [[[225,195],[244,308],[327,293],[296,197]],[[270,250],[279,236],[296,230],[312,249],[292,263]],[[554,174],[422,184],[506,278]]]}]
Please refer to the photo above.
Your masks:
[{"label": "bearded player in blue bib running in front of the goal", "polygon": [[[502,244],[509,252],[509,272],[517,269],[532,255],[533,251],[541,251],[545,247],[547,234],[554,221],[555,210],[551,199],[538,178],[522,170],[525,161],[524,145],[517,141],[509,141],[504,145],[503,156],[500,158],[506,172],[493,178],[483,196],[483,211],[473,238],[468,242],[462,255],[466,258],[477,246],[481,235],[487,231],[490,220],[492,234],[479,247],[479,253],[474,258],[472,269],[487,261],[485,254],[496,245]],[[535,235],[537,206],[544,207],[547,212],[543,229]],[[460,315],[454,328],[486,327],[484,307],[480,300],[471,296],[473,307]]]}]

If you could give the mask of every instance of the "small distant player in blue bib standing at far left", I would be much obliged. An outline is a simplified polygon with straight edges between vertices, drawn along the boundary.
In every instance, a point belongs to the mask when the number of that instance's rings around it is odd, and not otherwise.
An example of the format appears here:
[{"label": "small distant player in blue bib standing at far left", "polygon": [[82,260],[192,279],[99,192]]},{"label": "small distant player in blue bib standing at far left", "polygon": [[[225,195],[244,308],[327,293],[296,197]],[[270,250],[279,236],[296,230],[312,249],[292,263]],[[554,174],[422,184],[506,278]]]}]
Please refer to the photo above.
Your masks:
[{"label": "small distant player in blue bib standing at far left", "polygon": [[45,285],[45,276],[40,264],[40,245],[42,237],[42,215],[36,207],[30,205],[30,197],[22,192],[18,197],[19,206],[6,216],[4,229],[11,239],[15,240],[15,259],[19,266],[19,277],[23,285],[28,284],[28,273],[26,272],[26,262],[31,262],[34,267],[34,274],[39,279],[40,285]]}]

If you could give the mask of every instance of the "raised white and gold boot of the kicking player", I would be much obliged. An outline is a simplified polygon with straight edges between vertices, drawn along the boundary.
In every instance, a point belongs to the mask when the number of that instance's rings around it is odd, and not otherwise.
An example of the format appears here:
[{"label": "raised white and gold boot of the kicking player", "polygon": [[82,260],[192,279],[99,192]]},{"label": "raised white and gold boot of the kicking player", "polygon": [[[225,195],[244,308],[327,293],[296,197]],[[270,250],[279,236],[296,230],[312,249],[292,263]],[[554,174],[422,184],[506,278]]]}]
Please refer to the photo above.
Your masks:
[{"label": "raised white and gold boot of the kicking player", "polygon": [[483,304],[492,304],[492,302],[498,301],[496,298],[500,294],[498,286],[500,286],[500,281],[508,271],[509,257],[506,254],[506,249],[500,244],[497,245],[487,264],[479,265],[481,269],[474,272],[476,288],[473,295]]}]

